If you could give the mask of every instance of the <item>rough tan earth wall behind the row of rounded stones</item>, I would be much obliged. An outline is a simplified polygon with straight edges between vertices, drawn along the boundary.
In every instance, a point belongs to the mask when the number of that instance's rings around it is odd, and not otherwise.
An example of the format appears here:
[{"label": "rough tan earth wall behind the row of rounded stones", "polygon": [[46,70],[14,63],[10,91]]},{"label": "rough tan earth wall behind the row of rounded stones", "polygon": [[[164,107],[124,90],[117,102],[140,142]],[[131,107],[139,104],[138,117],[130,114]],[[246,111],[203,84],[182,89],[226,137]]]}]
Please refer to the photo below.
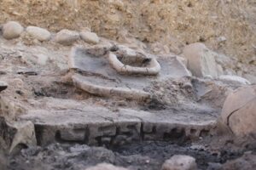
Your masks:
[{"label": "rough tan earth wall behind the row of rounded stones", "polygon": [[0,24],[17,20],[51,31],[88,27],[119,42],[138,39],[155,53],[179,54],[186,43],[205,42],[209,48],[251,65],[256,62],[255,18],[254,0],[0,1]]}]

